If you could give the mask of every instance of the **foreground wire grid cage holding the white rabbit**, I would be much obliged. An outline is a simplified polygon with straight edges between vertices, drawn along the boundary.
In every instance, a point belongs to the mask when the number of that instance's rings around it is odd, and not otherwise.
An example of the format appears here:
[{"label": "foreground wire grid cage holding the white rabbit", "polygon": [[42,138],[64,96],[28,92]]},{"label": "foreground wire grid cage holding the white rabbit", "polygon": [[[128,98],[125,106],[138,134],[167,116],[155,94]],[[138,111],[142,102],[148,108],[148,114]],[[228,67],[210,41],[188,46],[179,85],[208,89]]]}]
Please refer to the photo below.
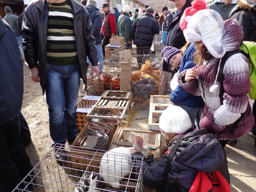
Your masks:
[{"label": "foreground wire grid cage holding the white rabbit", "polygon": [[[113,182],[106,182],[104,180],[98,180],[98,178],[107,179],[109,174],[99,174],[99,166],[95,166],[95,162],[100,162],[103,157],[103,153],[85,151],[80,149],[79,155],[77,155],[72,146],[53,146],[48,153],[35,165],[29,174],[17,185],[12,192],[74,192],[76,188],[90,189],[92,192],[104,191],[104,192],[142,192],[142,163],[143,157],[136,156],[137,163],[135,164],[131,156],[129,157],[129,171],[126,171],[126,176],[112,176],[115,180],[121,180],[120,189],[114,189],[110,185]],[[77,150],[76,150],[77,151]],[[55,155],[62,155],[65,160],[57,160]],[[113,155],[112,155],[113,156]],[[123,165],[124,159],[127,157],[125,154],[114,154],[116,157],[116,165]],[[134,158],[135,156],[133,156]],[[73,160],[72,160],[73,159]],[[80,161],[74,161],[79,159]],[[107,159],[108,161],[108,159]],[[83,163],[79,163],[83,162]],[[85,163],[87,162],[87,164]],[[102,161],[106,162],[106,161]],[[138,163],[139,162],[139,163]],[[85,169],[79,169],[78,167],[86,167]],[[116,166],[117,167],[117,166]],[[91,168],[89,170],[89,168]],[[118,169],[108,169],[110,171],[117,172]],[[139,173],[133,172],[134,169],[140,169]],[[97,174],[98,177],[91,180],[88,175]],[[123,171],[125,172],[125,171]],[[97,184],[93,185],[92,183]],[[86,182],[87,181],[87,182]],[[84,185],[86,184],[86,185]],[[101,186],[99,188],[99,186]],[[102,186],[104,188],[102,188]],[[83,190],[83,191],[87,191]]]}]

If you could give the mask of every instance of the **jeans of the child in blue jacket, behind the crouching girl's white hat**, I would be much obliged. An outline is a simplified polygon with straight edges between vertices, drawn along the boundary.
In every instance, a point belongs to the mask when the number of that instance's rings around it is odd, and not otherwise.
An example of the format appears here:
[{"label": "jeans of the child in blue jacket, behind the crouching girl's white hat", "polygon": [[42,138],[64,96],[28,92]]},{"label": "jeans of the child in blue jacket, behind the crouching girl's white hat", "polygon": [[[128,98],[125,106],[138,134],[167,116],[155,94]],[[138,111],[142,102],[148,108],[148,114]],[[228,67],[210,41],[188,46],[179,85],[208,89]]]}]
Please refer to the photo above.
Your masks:
[{"label": "jeans of the child in blue jacket, behind the crouching girl's white hat", "polygon": [[[173,105],[175,105],[175,104],[173,104]],[[181,107],[188,113],[193,127],[196,126],[196,128],[200,129],[199,122],[201,119],[201,113],[202,113],[202,109],[203,109],[202,107],[201,108],[190,108],[185,105],[176,105],[176,106]]]}]

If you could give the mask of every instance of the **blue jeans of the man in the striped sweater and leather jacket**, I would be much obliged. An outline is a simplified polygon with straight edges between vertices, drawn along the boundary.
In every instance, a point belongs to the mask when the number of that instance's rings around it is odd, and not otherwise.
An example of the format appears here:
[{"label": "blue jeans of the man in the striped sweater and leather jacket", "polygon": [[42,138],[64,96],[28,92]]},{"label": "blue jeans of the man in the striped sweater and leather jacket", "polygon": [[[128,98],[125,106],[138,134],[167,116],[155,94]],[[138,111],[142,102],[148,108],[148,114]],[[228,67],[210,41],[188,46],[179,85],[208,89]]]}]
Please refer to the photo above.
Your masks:
[{"label": "blue jeans of the man in the striped sweater and leather jacket", "polygon": [[77,136],[76,109],[80,72],[78,64],[46,67],[46,102],[50,136],[54,143],[65,144]]}]

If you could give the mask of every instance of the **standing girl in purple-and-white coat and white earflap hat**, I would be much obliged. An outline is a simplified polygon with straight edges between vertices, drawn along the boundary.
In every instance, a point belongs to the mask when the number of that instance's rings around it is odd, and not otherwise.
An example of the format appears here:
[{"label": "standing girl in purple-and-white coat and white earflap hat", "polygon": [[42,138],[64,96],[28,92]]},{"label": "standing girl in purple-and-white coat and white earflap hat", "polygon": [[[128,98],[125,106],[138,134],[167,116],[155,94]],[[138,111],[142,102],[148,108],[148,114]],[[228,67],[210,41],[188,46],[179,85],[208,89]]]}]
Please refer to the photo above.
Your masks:
[{"label": "standing girl in purple-and-white coat and white earflap hat", "polygon": [[224,64],[223,84],[217,79],[221,58],[240,47],[242,27],[237,20],[223,22],[214,10],[202,10],[191,17],[184,36],[187,42],[195,42],[197,67],[182,71],[178,82],[188,93],[202,96],[205,104],[200,127],[214,133],[224,147],[230,139],[248,134],[254,122],[252,101],[247,95],[247,58],[242,53],[230,56]]}]

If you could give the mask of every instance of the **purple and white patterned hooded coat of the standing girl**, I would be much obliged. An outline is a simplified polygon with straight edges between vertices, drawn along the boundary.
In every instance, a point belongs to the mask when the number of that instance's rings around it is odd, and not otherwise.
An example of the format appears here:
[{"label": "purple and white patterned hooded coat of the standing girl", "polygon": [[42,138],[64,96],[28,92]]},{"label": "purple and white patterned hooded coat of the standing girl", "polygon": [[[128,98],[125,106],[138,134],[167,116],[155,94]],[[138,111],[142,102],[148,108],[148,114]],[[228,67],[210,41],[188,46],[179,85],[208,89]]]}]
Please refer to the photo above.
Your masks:
[{"label": "purple and white patterned hooded coat of the standing girl", "polygon": [[[225,35],[222,37],[224,50],[232,51],[240,47],[244,35],[238,30],[237,21],[233,19],[225,22]],[[217,80],[218,91],[210,92],[214,84],[219,59],[210,53],[205,53],[204,65],[197,67],[198,77],[187,83],[184,82],[186,70],[178,76],[181,87],[193,95],[201,95],[205,104],[200,120],[200,127],[214,133],[218,140],[230,140],[244,136],[251,131],[254,125],[252,102],[247,95],[250,91],[249,63],[242,53],[230,56],[224,65],[223,87]],[[220,94],[223,90],[223,97]],[[223,104],[221,104],[223,103]],[[231,128],[234,122],[243,114],[234,134]]]}]

